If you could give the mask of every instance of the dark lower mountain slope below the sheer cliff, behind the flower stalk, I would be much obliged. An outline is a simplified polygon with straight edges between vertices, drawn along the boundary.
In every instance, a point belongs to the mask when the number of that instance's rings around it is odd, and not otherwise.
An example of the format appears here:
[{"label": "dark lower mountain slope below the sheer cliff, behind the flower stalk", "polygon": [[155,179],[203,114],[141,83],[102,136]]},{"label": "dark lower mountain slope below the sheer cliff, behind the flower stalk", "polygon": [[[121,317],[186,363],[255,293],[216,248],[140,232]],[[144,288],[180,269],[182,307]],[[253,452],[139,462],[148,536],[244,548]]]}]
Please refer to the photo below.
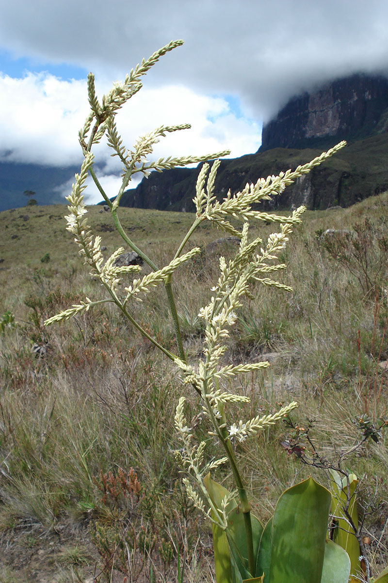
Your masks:
[{"label": "dark lower mountain slope below the sheer cliff, behind the flower stalk", "polygon": [[[319,156],[321,150],[275,148],[233,160],[223,160],[216,178],[216,192],[235,193],[247,182],[296,168]],[[289,209],[304,204],[309,209],[349,206],[388,189],[388,134],[349,144],[326,163],[301,177],[295,185],[263,208]],[[122,206],[192,212],[198,168],[152,173],[137,188],[124,193]]]}]

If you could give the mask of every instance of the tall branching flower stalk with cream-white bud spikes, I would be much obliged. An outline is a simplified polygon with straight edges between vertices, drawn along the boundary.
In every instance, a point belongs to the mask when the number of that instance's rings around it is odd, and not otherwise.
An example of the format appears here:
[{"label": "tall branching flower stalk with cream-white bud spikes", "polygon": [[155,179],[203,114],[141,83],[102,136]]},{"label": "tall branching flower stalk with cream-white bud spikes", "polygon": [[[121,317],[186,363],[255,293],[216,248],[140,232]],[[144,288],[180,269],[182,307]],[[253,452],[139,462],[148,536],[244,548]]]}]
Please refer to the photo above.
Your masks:
[{"label": "tall branching flower stalk with cream-white bud spikes", "polygon": [[[128,321],[145,338],[148,338],[153,345],[159,350],[162,350],[180,368],[183,374],[184,384],[192,385],[200,395],[202,410],[209,422],[209,436],[211,438],[217,438],[225,452],[225,456],[205,463],[204,452],[206,444],[202,441],[198,445],[193,445],[193,434],[187,427],[183,413],[184,398],[182,397],[176,409],[175,424],[180,438],[183,441],[183,451],[178,452],[177,457],[183,469],[188,473],[188,476],[193,477],[194,480],[193,482],[188,478],[184,480],[187,494],[201,511],[205,512],[216,524],[225,529],[228,524],[227,511],[230,500],[223,500],[221,508],[216,508],[211,497],[208,495],[204,477],[210,470],[214,470],[219,465],[229,462],[235,479],[237,496],[239,497],[244,514],[248,548],[248,567],[250,573],[254,573],[250,505],[241,472],[237,465],[234,446],[237,442],[243,442],[248,437],[256,435],[258,431],[271,426],[285,415],[288,415],[296,407],[296,403],[290,403],[273,415],[256,416],[245,422],[238,420],[228,424],[226,416],[228,405],[239,405],[240,403],[249,402],[249,399],[245,396],[230,393],[227,388],[223,388],[223,385],[227,387],[231,377],[266,368],[269,366],[269,363],[241,363],[235,366],[225,364],[225,340],[229,336],[230,328],[237,321],[237,312],[242,306],[244,297],[253,297],[254,287],[257,284],[264,285],[265,287],[277,287],[284,291],[291,290],[289,286],[273,279],[273,276],[286,267],[285,264],[277,263],[279,252],[285,247],[289,235],[292,233],[293,226],[301,222],[300,217],[306,209],[304,206],[300,206],[291,215],[284,217],[255,210],[253,209],[253,205],[257,205],[257,203],[264,200],[270,200],[272,196],[281,194],[289,184],[295,182],[302,175],[309,173],[312,168],[321,164],[324,160],[340,150],[345,145],[345,142],[339,143],[337,146],[328,150],[328,152],[324,152],[307,164],[298,166],[293,171],[287,170],[278,176],[272,175],[268,178],[259,178],[256,183],[247,184],[241,192],[235,194],[232,194],[229,190],[222,202],[215,194],[215,179],[220,165],[218,158],[228,154],[229,150],[208,154],[206,156],[169,156],[166,158],[161,157],[156,161],[149,160],[152,155],[153,146],[159,142],[160,138],[165,137],[166,134],[171,132],[188,129],[190,125],[160,126],[153,132],[141,136],[131,149],[126,149],[117,131],[115,117],[117,111],[141,89],[141,76],[145,75],[166,52],[173,50],[173,48],[181,44],[183,44],[183,41],[172,41],[159,51],[153,53],[146,61],[143,59],[141,64],[137,65],[126,76],[123,83],[114,83],[110,92],[103,96],[101,102],[96,97],[94,76],[92,73],[88,76],[90,113],[88,118],[86,118],[83,128],[79,131],[79,142],[85,160],[83,161],[80,173],[75,175],[72,192],[67,197],[69,214],[65,218],[67,219],[67,229],[74,235],[74,240],[78,244],[79,254],[83,258],[83,262],[89,266],[93,278],[97,277],[100,279],[100,282],[107,291],[108,297],[97,301],[90,300],[89,297],[86,297],[85,301],[82,301],[81,304],[73,305],[68,310],[54,315],[45,324],[50,325],[53,322],[68,319],[72,315],[90,310],[95,305],[106,302],[114,303]],[[92,153],[92,147],[104,135],[106,135],[107,145],[113,149],[112,156],[117,156],[123,164],[122,184],[113,201],[111,201],[102,188],[93,169],[94,154]],[[216,159],[212,163],[212,166],[207,162],[207,160],[211,159]],[[169,264],[158,268],[152,259],[128,237],[128,234],[121,225],[118,216],[121,198],[132,175],[136,173],[142,173],[145,177],[148,177],[152,170],[162,172],[165,169],[187,166],[187,164],[199,162],[204,162],[204,164],[198,175],[193,199],[196,210],[194,222],[186,236],[183,237],[173,259]],[[125,286],[123,286],[122,282],[123,277],[128,278],[141,271],[141,268],[139,266],[116,265],[116,259],[124,251],[123,247],[119,247],[104,262],[101,251],[101,238],[93,236],[85,216],[87,209],[83,201],[83,191],[86,188],[85,181],[88,174],[92,176],[104,201],[109,206],[116,229],[125,244],[137,252],[152,269],[152,272],[148,275],[144,275],[142,278],[134,278]],[[204,357],[198,360],[197,363],[190,364],[187,362],[186,354],[184,353],[172,289],[172,278],[173,273],[179,269],[181,264],[190,261],[200,252],[200,249],[197,247],[188,252],[184,252],[184,247],[198,226],[205,220],[211,222],[216,228],[239,237],[240,247],[236,256],[228,262],[223,257],[219,260],[219,278],[214,287],[212,287],[211,291],[213,295],[209,303],[201,308],[199,314],[205,324]],[[236,220],[243,222],[242,230],[237,230],[232,224],[232,221],[236,223]],[[261,238],[250,240],[249,221],[251,220],[278,223],[279,230],[277,233],[272,233],[265,243]],[[160,283],[165,285],[167,293],[176,334],[177,354],[162,346],[138,324],[131,314],[131,302],[143,301],[146,294],[150,293],[151,289]],[[195,486],[195,484],[197,485]],[[207,504],[207,509],[205,508],[205,503]]]}]

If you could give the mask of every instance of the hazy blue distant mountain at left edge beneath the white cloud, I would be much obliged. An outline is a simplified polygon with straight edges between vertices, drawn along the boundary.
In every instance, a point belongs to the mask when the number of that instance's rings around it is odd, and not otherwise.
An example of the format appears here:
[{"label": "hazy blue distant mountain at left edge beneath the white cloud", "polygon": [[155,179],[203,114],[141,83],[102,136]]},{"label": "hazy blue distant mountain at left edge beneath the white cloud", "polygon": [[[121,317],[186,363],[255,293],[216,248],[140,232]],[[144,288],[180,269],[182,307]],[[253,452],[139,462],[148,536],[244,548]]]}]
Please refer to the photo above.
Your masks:
[{"label": "hazy blue distant mountain at left edge beneath the white cloud", "polygon": [[64,203],[64,196],[55,192],[55,187],[74,178],[78,171],[78,166],[58,168],[0,161],[0,210],[25,206],[28,197],[23,192],[26,190],[35,192],[31,198],[39,205]]}]

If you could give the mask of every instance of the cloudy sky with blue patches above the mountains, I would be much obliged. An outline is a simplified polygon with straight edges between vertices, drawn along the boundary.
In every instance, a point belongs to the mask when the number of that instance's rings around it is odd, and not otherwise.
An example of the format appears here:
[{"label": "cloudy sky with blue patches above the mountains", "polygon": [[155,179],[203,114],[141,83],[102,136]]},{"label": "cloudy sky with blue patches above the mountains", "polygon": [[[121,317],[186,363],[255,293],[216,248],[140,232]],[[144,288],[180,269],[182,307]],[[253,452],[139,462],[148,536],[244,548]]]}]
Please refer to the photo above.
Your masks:
[{"label": "cloudy sky with blue patches above the mountains", "polygon": [[[0,14],[6,161],[81,163],[88,72],[101,97],[178,38],[184,45],[160,59],[117,115],[128,147],[162,124],[191,124],[162,139],[156,157],[256,152],[263,122],[293,95],[351,73],[388,74],[386,0],[0,0]],[[101,145],[96,160],[116,195],[116,158]],[[85,194],[100,200],[93,185]]]}]

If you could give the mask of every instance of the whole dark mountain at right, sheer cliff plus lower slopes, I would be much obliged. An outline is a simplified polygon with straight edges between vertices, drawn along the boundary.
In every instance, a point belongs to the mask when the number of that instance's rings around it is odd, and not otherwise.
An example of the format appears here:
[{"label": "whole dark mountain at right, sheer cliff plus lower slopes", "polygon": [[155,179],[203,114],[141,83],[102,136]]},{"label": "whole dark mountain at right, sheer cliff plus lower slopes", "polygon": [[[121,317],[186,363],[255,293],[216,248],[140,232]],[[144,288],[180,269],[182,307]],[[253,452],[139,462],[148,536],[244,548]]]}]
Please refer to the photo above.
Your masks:
[{"label": "whole dark mountain at right, sheer cliff plus lower slopes", "polygon": [[[222,199],[258,177],[278,174],[312,160],[346,139],[348,146],[301,177],[263,209],[349,206],[388,189],[388,79],[354,75],[295,97],[263,128],[256,154],[222,160],[216,192]],[[153,172],[124,193],[121,204],[145,209],[193,212],[198,168]]]}]

